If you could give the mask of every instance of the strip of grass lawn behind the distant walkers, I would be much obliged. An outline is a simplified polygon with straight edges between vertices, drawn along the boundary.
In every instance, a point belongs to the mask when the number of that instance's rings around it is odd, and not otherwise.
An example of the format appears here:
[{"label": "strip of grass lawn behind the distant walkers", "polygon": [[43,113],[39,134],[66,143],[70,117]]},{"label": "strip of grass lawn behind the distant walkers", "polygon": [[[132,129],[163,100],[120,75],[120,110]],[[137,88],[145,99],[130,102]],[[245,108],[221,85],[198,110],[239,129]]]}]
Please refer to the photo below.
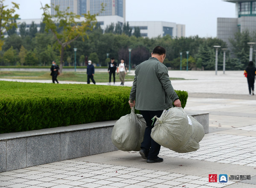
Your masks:
[{"label": "strip of grass lawn behind the distant walkers", "polygon": [[[0,78],[7,79],[29,79],[29,80],[51,80],[50,72],[25,72],[25,71],[0,71]],[[86,72],[62,72],[58,75],[58,81],[87,81]],[[95,72],[94,80],[96,82],[108,82],[108,72]],[[125,81],[133,81],[134,75],[125,75]],[[183,78],[170,78],[170,80],[184,80]],[[113,76],[111,81],[113,81]],[[119,75],[116,75],[116,81],[119,81]]]}]

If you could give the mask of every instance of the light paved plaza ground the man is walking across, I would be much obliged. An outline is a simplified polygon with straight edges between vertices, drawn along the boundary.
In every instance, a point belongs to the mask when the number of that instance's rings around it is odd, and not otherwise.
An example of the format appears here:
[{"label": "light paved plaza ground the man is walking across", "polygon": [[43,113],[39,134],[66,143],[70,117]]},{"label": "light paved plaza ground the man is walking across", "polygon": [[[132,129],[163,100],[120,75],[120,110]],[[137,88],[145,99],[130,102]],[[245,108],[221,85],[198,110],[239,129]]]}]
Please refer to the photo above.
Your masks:
[{"label": "light paved plaza ground the man is walking across", "polygon": [[[256,95],[248,95],[243,71],[169,75],[186,79],[172,81],[175,90],[189,93],[185,110],[209,112],[209,133],[199,150],[176,153],[162,147],[164,161],[153,164],[138,152],[117,150],[3,172],[0,187],[256,188]],[[228,181],[209,182],[209,174],[227,174]]]}]

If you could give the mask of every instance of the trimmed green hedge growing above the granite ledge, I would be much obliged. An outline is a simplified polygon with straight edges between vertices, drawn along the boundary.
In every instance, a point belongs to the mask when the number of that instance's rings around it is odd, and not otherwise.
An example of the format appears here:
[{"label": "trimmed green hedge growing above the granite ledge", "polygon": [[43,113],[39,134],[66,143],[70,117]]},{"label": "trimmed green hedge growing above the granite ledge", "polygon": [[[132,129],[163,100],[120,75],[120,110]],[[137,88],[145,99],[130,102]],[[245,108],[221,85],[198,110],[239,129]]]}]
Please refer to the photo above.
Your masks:
[{"label": "trimmed green hedge growing above the granite ledge", "polygon": [[[116,120],[131,112],[131,87],[0,81],[0,91],[0,133]],[[187,92],[176,93],[185,107]]]}]

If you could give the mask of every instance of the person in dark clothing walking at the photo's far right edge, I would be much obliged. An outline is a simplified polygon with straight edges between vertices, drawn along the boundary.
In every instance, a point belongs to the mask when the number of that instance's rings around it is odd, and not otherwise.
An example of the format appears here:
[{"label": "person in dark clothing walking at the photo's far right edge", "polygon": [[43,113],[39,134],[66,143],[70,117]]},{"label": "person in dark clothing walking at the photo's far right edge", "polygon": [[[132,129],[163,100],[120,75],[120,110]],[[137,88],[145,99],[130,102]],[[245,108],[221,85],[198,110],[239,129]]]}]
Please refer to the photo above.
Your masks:
[{"label": "person in dark clothing walking at the photo's far right edge", "polygon": [[244,73],[247,74],[247,82],[249,87],[249,95],[251,95],[251,90],[254,95],[254,81],[255,81],[255,74],[256,74],[256,67],[253,66],[253,61],[250,61]]}]

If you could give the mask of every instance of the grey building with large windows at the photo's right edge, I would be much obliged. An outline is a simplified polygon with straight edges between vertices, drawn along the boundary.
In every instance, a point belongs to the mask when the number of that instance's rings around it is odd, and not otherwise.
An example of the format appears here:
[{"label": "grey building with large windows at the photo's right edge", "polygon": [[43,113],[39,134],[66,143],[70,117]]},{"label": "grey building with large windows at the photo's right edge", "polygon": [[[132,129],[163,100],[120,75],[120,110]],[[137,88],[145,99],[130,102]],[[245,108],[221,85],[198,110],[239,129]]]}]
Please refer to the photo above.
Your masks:
[{"label": "grey building with large windows at the photo's right edge", "polygon": [[230,38],[236,32],[256,31],[256,0],[223,0],[236,3],[235,18],[217,18],[217,38],[224,40],[230,47]]}]

